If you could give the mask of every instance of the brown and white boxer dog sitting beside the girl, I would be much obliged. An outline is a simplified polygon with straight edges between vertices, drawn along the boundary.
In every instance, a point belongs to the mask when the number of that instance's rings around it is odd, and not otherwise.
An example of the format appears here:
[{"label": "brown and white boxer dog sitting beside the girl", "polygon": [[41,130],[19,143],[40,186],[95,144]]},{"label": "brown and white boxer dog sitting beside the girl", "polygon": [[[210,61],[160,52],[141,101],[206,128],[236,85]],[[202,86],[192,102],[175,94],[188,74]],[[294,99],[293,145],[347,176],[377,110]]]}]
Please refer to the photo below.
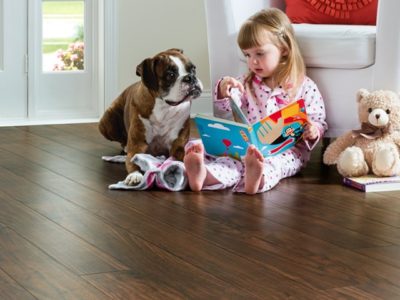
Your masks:
[{"label": "brown and white boxer dog sitting beside the girl", "polygon": [[143,177],[131,162],[136,153],[173,156],[182,160],[190,133],[191,100],[203,85],[196,67],[180,49],[169,49],[147,58],[136,67],[138,81],[126,88],[104,113],[100,132],[121,143],[127,153],[125,183]]}]

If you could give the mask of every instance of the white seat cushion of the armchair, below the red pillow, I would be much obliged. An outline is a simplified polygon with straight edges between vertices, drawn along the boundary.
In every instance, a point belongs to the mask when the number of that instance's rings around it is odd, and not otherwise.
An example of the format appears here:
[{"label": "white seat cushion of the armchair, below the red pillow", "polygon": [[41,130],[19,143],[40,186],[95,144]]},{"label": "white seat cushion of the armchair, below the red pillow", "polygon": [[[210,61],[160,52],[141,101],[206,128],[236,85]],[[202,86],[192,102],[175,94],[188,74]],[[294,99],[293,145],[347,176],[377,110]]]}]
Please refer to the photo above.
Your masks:
[{"label": "white seat cushion of the armchair, below the red pillow", "polygon": [[293,24],[307,67],[360,69],[375,62],[376,26]]}]

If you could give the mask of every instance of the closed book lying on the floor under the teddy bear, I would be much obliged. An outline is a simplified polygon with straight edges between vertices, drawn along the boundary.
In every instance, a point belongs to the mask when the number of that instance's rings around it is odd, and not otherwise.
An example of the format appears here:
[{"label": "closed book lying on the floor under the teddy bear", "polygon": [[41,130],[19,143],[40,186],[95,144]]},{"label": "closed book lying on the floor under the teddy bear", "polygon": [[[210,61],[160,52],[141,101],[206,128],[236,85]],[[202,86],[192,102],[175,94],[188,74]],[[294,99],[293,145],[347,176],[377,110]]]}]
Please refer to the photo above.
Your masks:
[{"label": "closed book lying on the floor under the teddy bear", "polygon": [[366,175],[361,177],[344,177],[343,184],[363,192],[389,192],[400,190],[400,176],[378,177]]}]

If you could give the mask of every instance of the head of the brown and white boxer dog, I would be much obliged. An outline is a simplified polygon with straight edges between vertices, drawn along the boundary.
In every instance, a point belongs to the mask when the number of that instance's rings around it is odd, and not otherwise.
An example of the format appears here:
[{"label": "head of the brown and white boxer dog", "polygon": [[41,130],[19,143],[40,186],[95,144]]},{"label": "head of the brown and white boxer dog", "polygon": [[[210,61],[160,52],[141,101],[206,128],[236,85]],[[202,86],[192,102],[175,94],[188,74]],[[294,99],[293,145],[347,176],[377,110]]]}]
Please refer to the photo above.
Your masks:
[{"label": "head of the brown and white boxer dog", "polygon": [[195,65],[179,49],[145,59],[137,66],[136,74],[155,97],[171,106],[195,99],[203,90]]}]

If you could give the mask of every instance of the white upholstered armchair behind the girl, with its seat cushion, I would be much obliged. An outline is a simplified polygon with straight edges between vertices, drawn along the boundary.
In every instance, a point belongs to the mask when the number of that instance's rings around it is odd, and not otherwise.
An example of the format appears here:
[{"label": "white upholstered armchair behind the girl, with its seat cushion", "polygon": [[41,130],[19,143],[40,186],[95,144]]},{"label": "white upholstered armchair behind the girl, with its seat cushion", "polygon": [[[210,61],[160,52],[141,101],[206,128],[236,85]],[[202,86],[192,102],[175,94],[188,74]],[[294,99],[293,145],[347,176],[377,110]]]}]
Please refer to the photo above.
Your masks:
[{"label": "white upholstered armchair behind the girl, with its seat cushion", "polygon": [[[211,82],[246,70],[236,44],[242,22],[266,7],[284,10],[283,0],[205,0]],[[358,89],[400,91],[399,0],[378,2],[377,26],[295,24],[307,75],[318,85],[335,137],[359,127]]]}]

